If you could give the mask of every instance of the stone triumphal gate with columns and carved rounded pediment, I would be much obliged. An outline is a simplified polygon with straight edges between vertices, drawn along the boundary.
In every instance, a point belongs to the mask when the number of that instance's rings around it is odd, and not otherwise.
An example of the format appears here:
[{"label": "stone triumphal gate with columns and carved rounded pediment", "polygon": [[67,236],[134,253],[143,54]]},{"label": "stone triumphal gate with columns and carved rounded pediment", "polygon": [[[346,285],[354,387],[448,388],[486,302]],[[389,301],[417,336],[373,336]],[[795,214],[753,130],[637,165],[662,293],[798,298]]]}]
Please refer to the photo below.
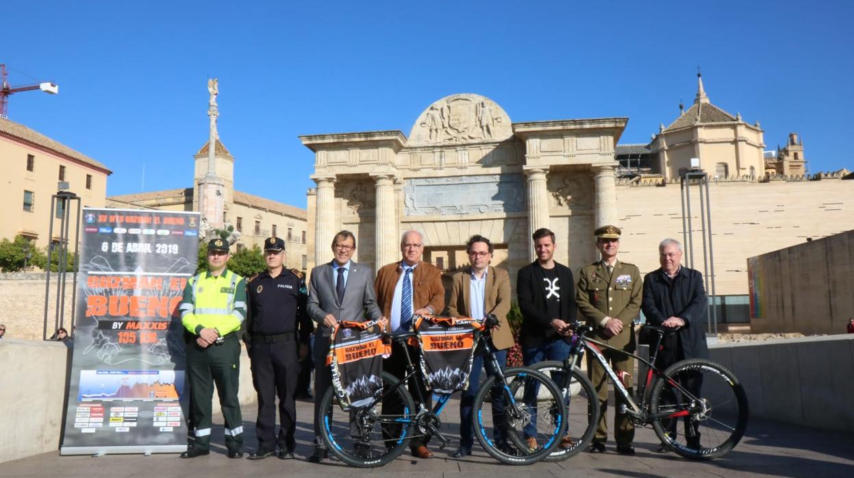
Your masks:
[{"label": "stone triumphal gate with columns and carved rounded pediment", "polygon": [[308,195],[309,266],[330,259],[337,230],[357,238],[354,259],[378,268],[400,257],[402,231],[424,234],[425,259],[451,271],[473,234],[495,244],[494,265],[533,259],[530,235],[559,232],[558,260],[594,258],[591,231],[617,221],[614,145],[625,118],[512,123],[486,97],[442,98],[401,131],[300,137],[315,152]]}]

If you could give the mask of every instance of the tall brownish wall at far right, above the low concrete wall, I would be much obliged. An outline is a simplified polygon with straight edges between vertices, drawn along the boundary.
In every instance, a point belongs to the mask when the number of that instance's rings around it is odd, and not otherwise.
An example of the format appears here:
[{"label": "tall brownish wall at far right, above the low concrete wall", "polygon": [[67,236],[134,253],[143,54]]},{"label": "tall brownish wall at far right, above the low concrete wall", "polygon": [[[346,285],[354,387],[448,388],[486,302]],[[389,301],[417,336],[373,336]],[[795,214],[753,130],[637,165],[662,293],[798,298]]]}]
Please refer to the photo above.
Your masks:
[{"label": "tall brownish wall at far right, above the low concrete wall", "polygon": [[[851,227],[850,219],[845,223]],[[841,334],[854,318],[854,230],[747,259],[751,328]]]}]

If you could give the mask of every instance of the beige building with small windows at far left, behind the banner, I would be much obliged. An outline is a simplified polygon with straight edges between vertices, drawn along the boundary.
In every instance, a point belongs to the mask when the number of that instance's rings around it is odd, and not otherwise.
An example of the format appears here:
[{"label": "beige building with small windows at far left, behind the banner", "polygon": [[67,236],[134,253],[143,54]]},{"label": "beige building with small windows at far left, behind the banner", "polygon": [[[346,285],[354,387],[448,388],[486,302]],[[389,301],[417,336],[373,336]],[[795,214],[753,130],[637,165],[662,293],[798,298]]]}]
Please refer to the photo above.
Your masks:
[{"label": "beige building with small windows at far left, behind the banner", "polygon": [[[25,125],[0,118],[0,158],[0,201],[4,205],[0,238],[12,240],[20,234],[31,238],[38,248],[59,240],[60,219],[56,213],[53,219],[49,217],[51,195],[56,194],[60,181],[67,182],[67,190],[80,197],[81,206],[104,205],[107,176],[111,174],[107,166]],[[53,237],[48,234],[50,220],[54,221]],[[77,229],[75,221],[72,217],[72,238]]]}]

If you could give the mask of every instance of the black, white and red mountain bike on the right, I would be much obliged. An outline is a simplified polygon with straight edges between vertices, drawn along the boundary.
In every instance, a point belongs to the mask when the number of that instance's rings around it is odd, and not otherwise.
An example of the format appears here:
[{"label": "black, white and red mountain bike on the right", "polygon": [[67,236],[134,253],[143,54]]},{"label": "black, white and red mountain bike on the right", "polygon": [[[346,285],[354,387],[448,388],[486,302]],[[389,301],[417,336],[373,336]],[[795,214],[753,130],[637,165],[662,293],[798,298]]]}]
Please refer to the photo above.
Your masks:
[{"label": "black, white and red mountain bike on the right", "polygon": [[[570,458],[593,441],[599,421],[599,399],[593,384],[578,368],[585,350],[593,354],[615,384],[617,393],[626,399],[629,405],[623,406],[629,419],[635,425],[652,424],[658,439],[670,451],[686,458],[719,458],[741,440],[749,411],[739,379],[721,364],[705,358],[687,358],[667,370],[659,370],[654,363],[664,336],[676,333],[679,328],[652,325],[645,328],[658,335],[654,347],[650,347],[652,357],[647,361],[626,353],[648,367],[646,380],[639,383],[636,391],[637,402],[600,353],[600,347],[618,349],[586,336],[593,331],[586,324],[576,322],[570,326],[572,333],[564,339],[570,344],[570,354],[564,362],[548,361],[532,366],[551,374],[567,402],[567,439],[547,460]],[[677,427],[679,422],[683,422],[681,427]]]}]

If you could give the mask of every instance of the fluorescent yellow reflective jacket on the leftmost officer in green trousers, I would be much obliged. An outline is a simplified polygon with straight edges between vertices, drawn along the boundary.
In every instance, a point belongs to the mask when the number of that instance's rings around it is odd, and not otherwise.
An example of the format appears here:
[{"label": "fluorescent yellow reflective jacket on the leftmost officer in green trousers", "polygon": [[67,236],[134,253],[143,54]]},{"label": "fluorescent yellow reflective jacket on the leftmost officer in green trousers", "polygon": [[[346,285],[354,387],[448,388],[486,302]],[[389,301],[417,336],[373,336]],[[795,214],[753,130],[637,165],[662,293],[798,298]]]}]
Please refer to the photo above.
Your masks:
[{"label": "fluorescent yellow reflective jacket on the leftmost officer in green trousers", "polygon": [[202,329],[217,329],[220,336],[240,329],[246,318],[246,283],[225,269],[219,276],[202,272],[191,277],[178,310],[181,323],[198,335]]}]

